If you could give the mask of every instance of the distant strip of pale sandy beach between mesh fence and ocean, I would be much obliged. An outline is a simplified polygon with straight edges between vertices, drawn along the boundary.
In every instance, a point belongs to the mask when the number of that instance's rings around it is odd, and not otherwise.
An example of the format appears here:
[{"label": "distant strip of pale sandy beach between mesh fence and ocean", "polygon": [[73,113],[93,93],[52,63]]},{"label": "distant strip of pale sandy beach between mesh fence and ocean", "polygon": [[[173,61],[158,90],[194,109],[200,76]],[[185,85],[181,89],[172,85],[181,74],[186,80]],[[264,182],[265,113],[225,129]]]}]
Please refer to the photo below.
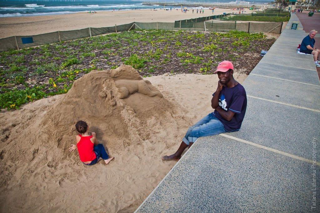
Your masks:
[{"label": "distant strip of pale sandy beach between mesh fence and ocean", "polygon": [[[4,17],[0,18],[0,38],[14,35],[39,35],[56,31],[68,31],[83,28],[112,27],[115,25],[128,24],[132,22],[174,22],[176,20],[194,19],[199,17],[220,15],[236,12],[231,9],[206,9],[204,14],[188,11],[181,12],[181,9],[167,10],[132,10],[132,11],[107,11],[97,13],[79,12],[65,15],[50,16],[25,16],[25,17]],[[245,9],[244,13],[251,13]]]}]

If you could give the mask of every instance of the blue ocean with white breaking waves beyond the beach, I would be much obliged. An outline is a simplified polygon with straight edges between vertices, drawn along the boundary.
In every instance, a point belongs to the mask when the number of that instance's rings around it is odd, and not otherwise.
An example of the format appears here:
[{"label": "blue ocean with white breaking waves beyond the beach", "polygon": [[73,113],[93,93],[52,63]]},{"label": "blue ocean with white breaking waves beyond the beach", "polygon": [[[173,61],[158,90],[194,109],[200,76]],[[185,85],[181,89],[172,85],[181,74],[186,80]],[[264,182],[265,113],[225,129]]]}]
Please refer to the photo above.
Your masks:
[{"label": "blue ocean with white breaking waves beyond the beach", "polygon": [[74,12],[159,9],[136,0],[0,0],[0,17],[56,15]]}]

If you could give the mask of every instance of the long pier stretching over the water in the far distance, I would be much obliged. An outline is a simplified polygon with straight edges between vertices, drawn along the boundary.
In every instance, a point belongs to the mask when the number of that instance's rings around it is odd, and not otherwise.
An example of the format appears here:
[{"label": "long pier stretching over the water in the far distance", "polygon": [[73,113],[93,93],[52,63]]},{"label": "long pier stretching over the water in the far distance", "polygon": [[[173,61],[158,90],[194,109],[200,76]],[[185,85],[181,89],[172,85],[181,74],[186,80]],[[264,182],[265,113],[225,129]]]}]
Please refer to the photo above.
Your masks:
[{"label": "long pier stretching over the water in the far distance", "polygon": [[[223,9],[239,8],[239,7],[251,7],[251,4],[228,4],[218,2],[167,2],[167,1],[145,1],[143,5],[162,5],[162,6],[179,6],[179,7],[217,7]],[[255,5],[257,8],[261,8],[261,5]]]}]

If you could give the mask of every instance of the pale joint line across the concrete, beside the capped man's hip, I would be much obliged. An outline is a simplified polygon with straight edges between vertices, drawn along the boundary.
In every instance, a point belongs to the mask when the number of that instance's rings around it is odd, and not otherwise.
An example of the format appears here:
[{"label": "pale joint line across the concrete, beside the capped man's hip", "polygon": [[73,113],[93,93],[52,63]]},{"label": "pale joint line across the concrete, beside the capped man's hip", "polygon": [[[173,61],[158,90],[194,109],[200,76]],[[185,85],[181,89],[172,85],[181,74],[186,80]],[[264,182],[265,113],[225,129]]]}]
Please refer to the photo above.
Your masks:
[{"label": "pale joint line across the concrete, beside the capped man's hip", "polygon": [[316,164],[317,166],[320,166],[320,162],[313,162],[312,160],[309,160],[309,159],[306,159],[306,158],[303,158],[303,157],[299,157],[299,156],[294,155],[294,154],[289,154],[289,153],[286,153],[286,152],[283,152],[283,151],[280,151],[280,150],[277,150],[277,149],[270,148],[268,146],[262,146],[260,144],[256,144],[256,143],[253,143],[253,142],[250,142],[250,141],[247,141],[247,140],[243,140],[243,139],[240,139],[240,138],[236,138],[236,137],[233,137],[233,136],[230,136],[230,135],[226,135],[224,133],[222,133],[220,135],[223,136],[223,137],[226,137],[226,138],[230,138],[230,139],[245,143],[245,144],[249,144],[251,146],[256,146],[256,147],[261,148],[261,149],[265,149],[265,150],[268,150],[268,151],[271,151],[271,152],[274,152],[274,153],[277,153],[277,154],[282,154],[282,155],[287,156],[287,157],[291,157],[291,158],[294,158],[294,159],[297,159],[297,160],[300,160],[300,161],[304,161],[304,162],[307,162],[307,163],[312,163],[312,164]]}]

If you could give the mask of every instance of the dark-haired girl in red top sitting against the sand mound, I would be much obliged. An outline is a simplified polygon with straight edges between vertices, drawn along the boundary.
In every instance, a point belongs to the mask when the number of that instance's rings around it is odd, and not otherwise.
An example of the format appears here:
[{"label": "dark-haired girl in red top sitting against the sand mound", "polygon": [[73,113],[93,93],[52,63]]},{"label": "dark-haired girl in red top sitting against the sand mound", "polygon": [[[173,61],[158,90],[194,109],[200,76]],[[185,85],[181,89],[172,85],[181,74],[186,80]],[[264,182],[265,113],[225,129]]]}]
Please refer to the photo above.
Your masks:
[{"label": "dark-haired girl in red top sitting against the sand mound", "polygon": [[69,151],[74,152],[78,148],[80,161],[85,165],[91,166],[100,160],[104,160],[108,164],[114,159],[114,157],[109,158],[103,145],[99,144],[96,133],[92,132],[92,135],[89,135],[89,126],[86,122],[78,121],[76,130],[80,133],[76,136],[77,144],[71,144]]}]

